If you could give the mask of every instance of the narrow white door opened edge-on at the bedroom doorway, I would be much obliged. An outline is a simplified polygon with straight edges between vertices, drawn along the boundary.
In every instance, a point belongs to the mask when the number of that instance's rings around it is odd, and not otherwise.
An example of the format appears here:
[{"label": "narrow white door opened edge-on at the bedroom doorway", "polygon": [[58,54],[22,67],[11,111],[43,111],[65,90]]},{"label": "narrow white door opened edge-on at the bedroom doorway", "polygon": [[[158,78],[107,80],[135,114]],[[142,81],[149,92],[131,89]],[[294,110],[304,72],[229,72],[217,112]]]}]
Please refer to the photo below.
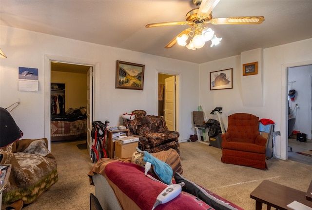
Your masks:
[{"label": "narrow white door opened edge-on at the bedroom doorway", "polygon": [[91,130],[93,122],[93,68],[90,67],[87,73],[87,149],[90,153],[92,145]]}]

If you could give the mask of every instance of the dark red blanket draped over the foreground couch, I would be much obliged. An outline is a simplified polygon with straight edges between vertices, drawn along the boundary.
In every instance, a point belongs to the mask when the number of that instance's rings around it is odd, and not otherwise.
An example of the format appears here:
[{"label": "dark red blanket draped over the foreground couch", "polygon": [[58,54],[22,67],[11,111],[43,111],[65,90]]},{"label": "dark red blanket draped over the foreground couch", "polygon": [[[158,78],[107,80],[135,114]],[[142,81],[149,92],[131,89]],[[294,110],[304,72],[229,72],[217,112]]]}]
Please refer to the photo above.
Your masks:
[{"label": "dark red blanket draped over the foreground couch", "polygon": [[[105,175],[110,182],[114,183],[142,210],[151,210],[158,194],[167,187],[165,184],[145,176],[144,168],[132,163],[109,163],[105,167]],[[156,210],[199,210],[209,208],[208,205],[205,205],[205,207],[200,206],[193,196],[181,193],[172,201],[157,206]]]}]

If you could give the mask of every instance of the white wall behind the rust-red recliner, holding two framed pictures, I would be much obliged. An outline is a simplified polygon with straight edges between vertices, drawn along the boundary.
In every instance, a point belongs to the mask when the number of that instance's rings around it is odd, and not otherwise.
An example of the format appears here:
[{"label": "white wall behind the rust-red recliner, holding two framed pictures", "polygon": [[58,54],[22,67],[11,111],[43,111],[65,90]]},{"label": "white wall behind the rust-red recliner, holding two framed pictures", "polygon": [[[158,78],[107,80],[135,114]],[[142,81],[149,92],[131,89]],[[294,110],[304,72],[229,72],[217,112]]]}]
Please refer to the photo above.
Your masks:
[{"label": "white wall behind the rust-red recliner, holding two framed pictures", "polygon": [[[216,106],[223,107],[222,121],[227,128],[227,117],[236,112],[251,113],[275,122],[276,157],[287,158],[287,67],[312,63],[312,39],[284,44],[263,50],[263,105],[244,106],[241,97],[240,55],[200,64],[200,104],[206,115]],[[233,68],[233,89],[210,90],[210,72]],[[259,87],[261,88],[261,87]],[[256,100],[250,97],[250,100]]]}]

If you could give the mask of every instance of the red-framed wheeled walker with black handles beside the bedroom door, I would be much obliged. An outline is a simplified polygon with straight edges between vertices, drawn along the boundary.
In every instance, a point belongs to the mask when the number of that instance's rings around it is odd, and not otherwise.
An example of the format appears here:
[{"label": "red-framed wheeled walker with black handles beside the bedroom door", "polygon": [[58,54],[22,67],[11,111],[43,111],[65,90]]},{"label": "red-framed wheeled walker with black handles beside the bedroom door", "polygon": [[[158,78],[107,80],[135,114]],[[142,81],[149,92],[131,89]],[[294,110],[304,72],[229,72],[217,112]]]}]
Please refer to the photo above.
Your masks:
[{"label": "red-framed wheeled walker with black handles beside the bedroom door", "polygon": [[91,162],[94,163],[96,161],[99,161],[101,158],[107,157],[106,150],[104,148],[105,146],[105,140],[106,140],[106,129],[109,122],[106,120],[105,124],[103,124],[101,121],[94,121],[92,122],[92,131],[91,131],[91,137],[95,139],[94,145],[91,146]]}]

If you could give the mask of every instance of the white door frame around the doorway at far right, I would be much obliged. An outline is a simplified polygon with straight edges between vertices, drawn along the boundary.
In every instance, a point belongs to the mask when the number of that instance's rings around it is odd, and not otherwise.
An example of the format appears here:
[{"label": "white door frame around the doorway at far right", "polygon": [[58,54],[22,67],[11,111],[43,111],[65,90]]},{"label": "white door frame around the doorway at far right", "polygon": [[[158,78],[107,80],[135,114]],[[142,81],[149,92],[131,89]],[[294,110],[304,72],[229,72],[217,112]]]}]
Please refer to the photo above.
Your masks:
[{"label": "white door frame around the doorway at far right", "polygon": [[281,65],[281,155],[278,158],[282,160],[288,159],[288,68],[311,64],[312,60]]}]

